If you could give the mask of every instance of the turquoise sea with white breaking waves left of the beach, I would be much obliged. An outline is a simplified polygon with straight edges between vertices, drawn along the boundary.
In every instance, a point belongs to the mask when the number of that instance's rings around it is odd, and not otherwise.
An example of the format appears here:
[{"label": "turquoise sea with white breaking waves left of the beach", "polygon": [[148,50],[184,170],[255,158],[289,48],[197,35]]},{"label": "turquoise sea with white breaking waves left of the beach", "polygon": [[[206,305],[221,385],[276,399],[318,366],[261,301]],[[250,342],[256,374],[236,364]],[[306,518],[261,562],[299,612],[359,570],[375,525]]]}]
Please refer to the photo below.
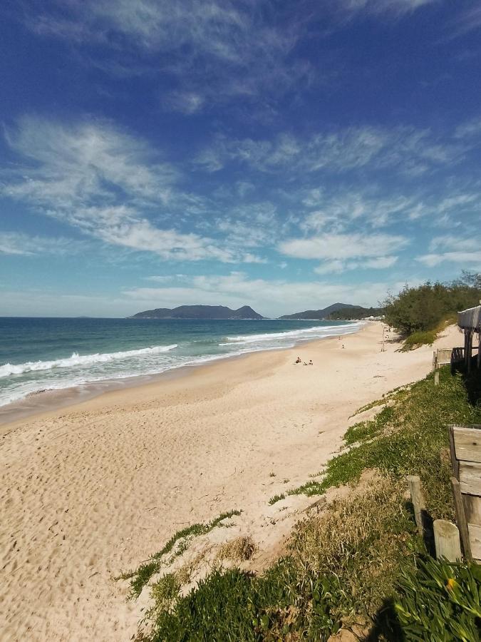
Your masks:
[{"label": "turquoise sea with white breaking waves left of the beach", "polygon": [[326,321],[0,317],[0,406],[43,390],[157,374],[358,329]]}]

